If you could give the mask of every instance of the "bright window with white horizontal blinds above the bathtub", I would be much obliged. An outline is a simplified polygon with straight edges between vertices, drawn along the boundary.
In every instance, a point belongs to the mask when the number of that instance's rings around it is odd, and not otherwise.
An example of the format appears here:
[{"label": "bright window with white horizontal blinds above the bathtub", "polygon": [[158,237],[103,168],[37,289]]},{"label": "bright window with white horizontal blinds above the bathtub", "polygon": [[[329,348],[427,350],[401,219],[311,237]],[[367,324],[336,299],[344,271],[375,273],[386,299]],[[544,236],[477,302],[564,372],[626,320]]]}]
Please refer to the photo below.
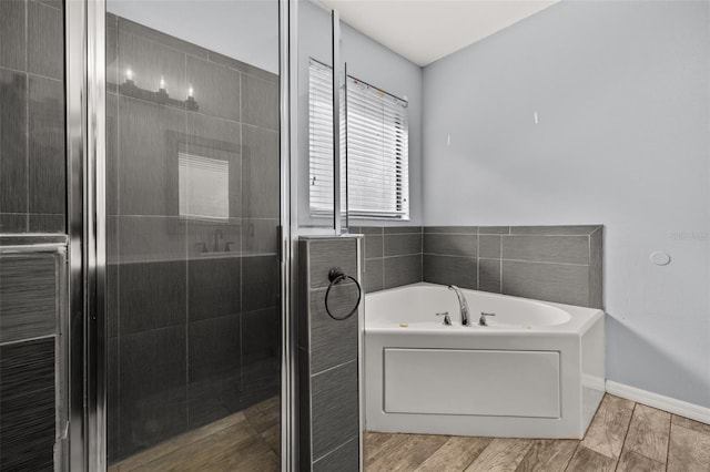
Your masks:
[{"label": "bright window with white horizontal blinds above the bathtub", "polygon": [[[312,60],[310,76],[311,213],[329,214],[333,212],[332,71]],[[408,219],[407,102],[352,76],[347,78],[346,90],[347,130],[341,132],[341,168],[343,177],[347,176],[347,189],[342,185],[343,211],[347,207],[349,216],[355,217]]]}]

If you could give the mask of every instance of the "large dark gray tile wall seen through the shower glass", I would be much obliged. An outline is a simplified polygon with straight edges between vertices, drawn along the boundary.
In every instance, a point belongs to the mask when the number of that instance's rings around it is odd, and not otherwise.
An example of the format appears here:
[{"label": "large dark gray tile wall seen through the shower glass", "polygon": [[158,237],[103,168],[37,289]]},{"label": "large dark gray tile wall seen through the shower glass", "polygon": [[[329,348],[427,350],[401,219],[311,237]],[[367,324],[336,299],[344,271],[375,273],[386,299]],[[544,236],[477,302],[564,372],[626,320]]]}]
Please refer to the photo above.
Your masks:
[{"label": "large dark gray tile wall seen through the shower glass", "polygon": [[[112,14],[106,75],[113,462],[280,392],[278,86]],[[227,219],[180,217],[178,153],[229,163]]]}]

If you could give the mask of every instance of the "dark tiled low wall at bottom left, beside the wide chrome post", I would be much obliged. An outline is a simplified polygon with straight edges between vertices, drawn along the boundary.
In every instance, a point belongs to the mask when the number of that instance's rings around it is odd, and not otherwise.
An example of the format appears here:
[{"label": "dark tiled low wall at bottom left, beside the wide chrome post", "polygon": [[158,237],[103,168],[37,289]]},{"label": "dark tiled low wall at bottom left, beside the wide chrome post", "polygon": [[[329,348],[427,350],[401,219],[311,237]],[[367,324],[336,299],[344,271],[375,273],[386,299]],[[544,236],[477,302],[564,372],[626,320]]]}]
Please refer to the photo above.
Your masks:
[{"label": "dark tiled low wall at bottom left, beside the wide chrome post", "polygon": [[[20,240],[22,240],[20,243]],[[24,237],[3,244],[50,243]],[[52,243],[65,243],[62,236]],[[60,294],[65,259],[57,252],[0,255],[0,470],[54,470],[55,359],[61,358]],[[62,453],[58,449],[58,453]]]}]

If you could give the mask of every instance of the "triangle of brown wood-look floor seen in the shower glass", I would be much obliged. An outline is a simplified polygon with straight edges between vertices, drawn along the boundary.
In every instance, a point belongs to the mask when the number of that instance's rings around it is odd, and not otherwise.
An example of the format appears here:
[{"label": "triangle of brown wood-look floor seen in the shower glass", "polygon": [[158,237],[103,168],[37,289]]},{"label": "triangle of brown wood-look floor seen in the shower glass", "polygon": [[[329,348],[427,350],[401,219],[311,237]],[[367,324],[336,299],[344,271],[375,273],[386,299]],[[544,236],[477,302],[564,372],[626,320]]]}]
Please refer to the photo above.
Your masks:
[{"label": "triangle of brown wood-look floor seen in the shower glass", "polygon": [[109,472],[280,471],[277,397],[165,441],[109,466]]}]

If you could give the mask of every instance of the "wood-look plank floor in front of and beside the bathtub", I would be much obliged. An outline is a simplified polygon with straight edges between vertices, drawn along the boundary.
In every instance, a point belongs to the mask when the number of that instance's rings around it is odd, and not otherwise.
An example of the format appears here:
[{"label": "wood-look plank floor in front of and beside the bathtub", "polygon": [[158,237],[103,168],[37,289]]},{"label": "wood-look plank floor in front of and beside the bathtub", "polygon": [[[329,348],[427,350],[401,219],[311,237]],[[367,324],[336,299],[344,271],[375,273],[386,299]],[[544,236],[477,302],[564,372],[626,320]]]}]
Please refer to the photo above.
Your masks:
[{"label": "wood-look plank floor in front of and beside the bathtub", "polygon": [[365,470],[710,472],[710,425],[605,396],[581,441],[365,434]]}]

